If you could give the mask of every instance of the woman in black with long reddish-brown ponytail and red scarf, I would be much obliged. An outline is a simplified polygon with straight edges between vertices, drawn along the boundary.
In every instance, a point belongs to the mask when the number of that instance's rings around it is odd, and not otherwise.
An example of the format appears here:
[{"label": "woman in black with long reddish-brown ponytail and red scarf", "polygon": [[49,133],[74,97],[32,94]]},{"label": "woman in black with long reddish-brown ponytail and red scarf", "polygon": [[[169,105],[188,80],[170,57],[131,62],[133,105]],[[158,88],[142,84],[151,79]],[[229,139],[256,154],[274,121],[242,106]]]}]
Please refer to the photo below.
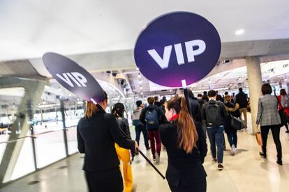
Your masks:
[{"label": "woman in black with long reddish-brown ponytail and red scarf", "polygon": [[168,153],[166,178],[171,191],[206,191],[207,174],[202,163],[207,143],[202,125],[194,122],[184,97],[172,97],[165,105],[167,125],[160,135]]}]

